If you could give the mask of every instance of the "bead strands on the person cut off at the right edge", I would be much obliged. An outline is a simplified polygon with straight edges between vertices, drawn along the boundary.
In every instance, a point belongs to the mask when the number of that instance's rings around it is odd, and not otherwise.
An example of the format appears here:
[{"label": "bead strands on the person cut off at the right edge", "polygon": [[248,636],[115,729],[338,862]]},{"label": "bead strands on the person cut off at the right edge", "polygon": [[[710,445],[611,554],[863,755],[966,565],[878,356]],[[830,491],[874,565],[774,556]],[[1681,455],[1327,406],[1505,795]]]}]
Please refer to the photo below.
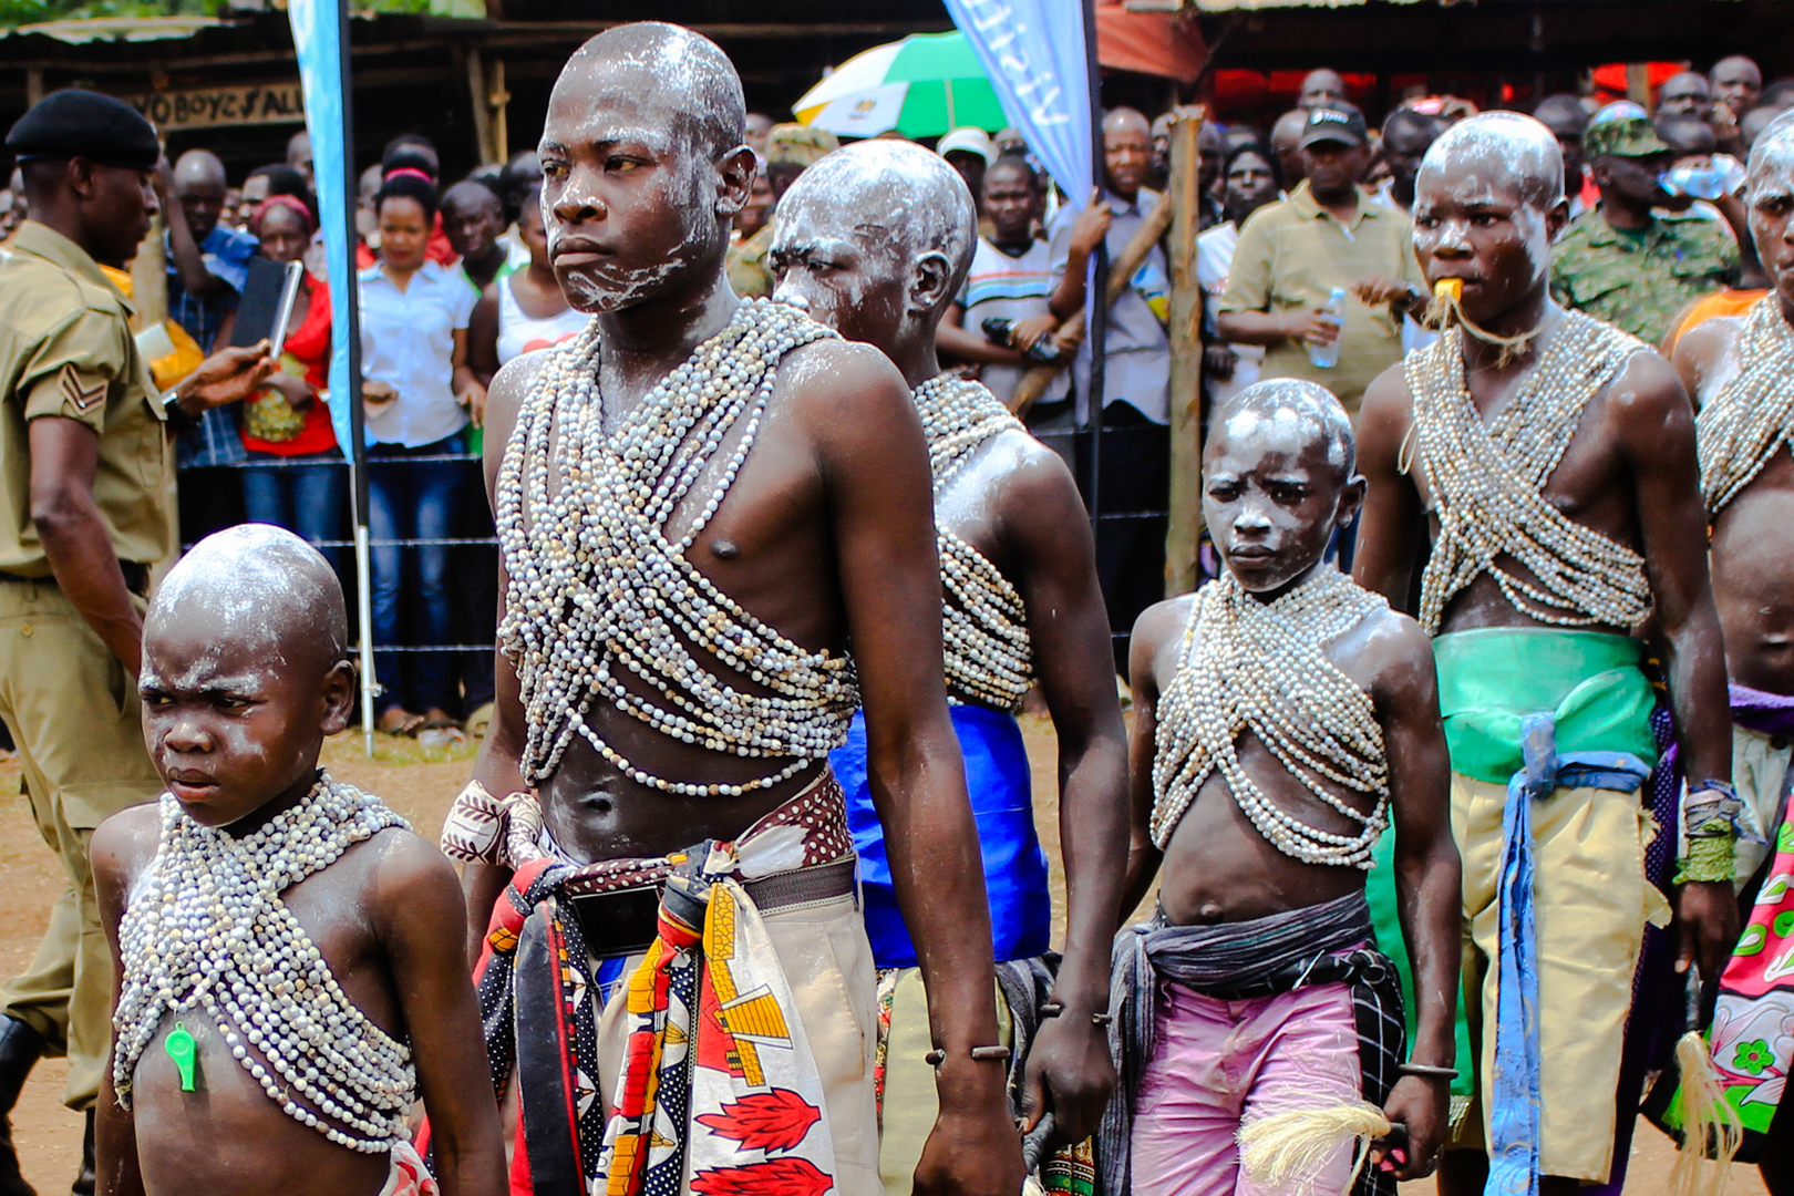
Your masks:
[{"label": "bead strands on the person cut off at the right edge", "polygon": [[1794,330],[1765,298],[1744,319],[1738,373],[1695,416],[1701,497],[1719,515],[1794,438]]}]

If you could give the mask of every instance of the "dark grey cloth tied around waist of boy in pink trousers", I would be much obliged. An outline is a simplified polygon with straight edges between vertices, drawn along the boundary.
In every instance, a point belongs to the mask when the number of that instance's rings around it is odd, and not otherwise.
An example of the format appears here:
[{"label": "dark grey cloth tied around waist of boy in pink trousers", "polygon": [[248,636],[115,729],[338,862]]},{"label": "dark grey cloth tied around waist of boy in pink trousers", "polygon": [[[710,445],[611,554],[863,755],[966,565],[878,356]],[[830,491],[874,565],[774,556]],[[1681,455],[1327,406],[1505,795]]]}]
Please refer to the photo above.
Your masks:
[{"label": "dark grey cloth tied around waist of boy in pink trousers", "polygon": [[[1109,1049],[1116,1060],[1116,1096],[1096,1137],[1103,1196],[1130,1191],[1132,1097],[1154,1053],[1161,981],[1218,1001],[1349,984],[1363,1097],[1372,1105],[1389,1099],[1406,1051],[1401,977],[1376,950],[1363,891],[1267,918],[1211,925],[1170,925],[1159,909],[1152,922],[1116,936],[1112,963]],[[1367,1167],[1354,1191],[1358,1196],[1392,1196],[1396,1189],[1387,1174]]]}]

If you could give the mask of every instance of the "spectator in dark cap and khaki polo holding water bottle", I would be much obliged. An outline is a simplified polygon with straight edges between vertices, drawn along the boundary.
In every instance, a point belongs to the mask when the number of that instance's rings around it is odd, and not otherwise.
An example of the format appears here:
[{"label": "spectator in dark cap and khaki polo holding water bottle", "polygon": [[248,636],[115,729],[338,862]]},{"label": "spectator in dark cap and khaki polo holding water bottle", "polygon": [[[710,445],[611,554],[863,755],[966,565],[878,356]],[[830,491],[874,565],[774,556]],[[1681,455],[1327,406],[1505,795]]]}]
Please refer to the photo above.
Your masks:
[{"label": "spectator in dark cap and khaki polo holding water bottle", "polygon": [[[1310,109],[1297,143],[1306,178],[1240,230],[1216,319],[1224,341],[1267,346],[1261,378],[1319,382],[1354,414],[1401,357],[1401,317],[1424,307],[1408,219],[1358,188],[1369,140],[1351,104]],[[1344,325],[1320,312],[1335,287],[1347,294]],[[1310,346],[1335,341],[1338,364],[1315,366]]]}]

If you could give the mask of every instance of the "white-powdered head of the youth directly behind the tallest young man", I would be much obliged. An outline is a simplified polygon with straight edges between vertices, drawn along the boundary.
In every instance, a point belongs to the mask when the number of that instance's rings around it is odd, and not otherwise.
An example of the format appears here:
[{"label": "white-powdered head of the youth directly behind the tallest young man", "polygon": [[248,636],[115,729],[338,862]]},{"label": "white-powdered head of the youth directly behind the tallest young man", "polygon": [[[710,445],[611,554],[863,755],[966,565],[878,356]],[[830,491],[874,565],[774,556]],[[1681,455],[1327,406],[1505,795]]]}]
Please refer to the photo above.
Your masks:
[{"label": "white-powdered head of the youth directly behind the tallest young man", "polygon": [[976,246],[978,210],[958,170],[913,142],[858,142],[818,160],[779,201],[773,298],[904,368],[924,341],[933,359]]}]

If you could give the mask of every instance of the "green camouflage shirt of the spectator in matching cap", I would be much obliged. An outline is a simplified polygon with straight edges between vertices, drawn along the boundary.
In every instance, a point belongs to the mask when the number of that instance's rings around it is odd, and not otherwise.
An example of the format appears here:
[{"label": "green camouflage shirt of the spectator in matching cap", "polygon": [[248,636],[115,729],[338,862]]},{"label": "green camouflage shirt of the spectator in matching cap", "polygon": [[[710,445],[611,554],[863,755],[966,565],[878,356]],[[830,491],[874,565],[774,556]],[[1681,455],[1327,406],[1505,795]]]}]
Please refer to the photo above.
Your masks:
[{"label": "green camouflage shirt of the spectator in matching cap", "polygon": [[1643,237],[1586,212],[1552,247],[1552,296],[1658,344],[1690,299],[1738,282],[1738,244],[1703,215],[1659,212]]}]

